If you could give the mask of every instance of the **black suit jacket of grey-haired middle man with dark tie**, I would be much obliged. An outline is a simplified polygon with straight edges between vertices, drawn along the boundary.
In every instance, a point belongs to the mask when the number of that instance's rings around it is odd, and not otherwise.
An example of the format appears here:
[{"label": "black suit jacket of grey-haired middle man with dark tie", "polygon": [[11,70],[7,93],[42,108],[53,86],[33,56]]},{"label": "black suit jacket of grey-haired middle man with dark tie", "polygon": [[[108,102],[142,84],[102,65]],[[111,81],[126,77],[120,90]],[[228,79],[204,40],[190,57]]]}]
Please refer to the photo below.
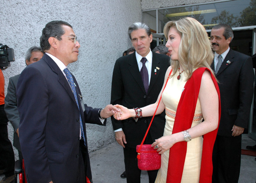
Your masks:
[{"label": "black suit jacket of grey-haired middle man with dark tie", "polygon": [[[135,52],[120,57],[116,61],[113,70],[111,104],[121,104],[125,107],[133,108],[155,103],[162,89],[166,70],[170,65],[169,60],[170,57],[166,55],[152,53],[151,79],[148,94],[146,94]],[[142,142],[151,119],[152,117],[142,117],[136,123],[133,118],[122,121],[111,118],[114,130],[123,129],[127,141],[126,145],[130,148],[136,148],[136,145]],[[155,116],[150,127],[153,142],[163,136],[164,126],[165,111]]]}]

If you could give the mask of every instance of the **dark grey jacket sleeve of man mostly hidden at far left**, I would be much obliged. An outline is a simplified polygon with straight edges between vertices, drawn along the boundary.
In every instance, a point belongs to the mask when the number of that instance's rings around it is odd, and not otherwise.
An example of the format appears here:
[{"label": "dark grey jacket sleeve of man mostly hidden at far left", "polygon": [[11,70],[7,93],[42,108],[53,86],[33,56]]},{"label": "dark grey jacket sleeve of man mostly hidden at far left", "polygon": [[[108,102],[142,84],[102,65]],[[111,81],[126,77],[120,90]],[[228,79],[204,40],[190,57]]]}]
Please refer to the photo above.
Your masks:
[{"label": "dark grey jacket sleeve of man mostly hidden at far left", "polygon": [[16,133],[17,129],[19,128],[19,111],[17,107],[17,97],[16,97],[16,86],[19,79],[19,75],[10,77],[9,79],[9,85],[7,88],[7,94],[4,99],[4,110],[6,113],[6,116],[10,123],[13,126],[14,134],[13,134],[13,146],[16,147],[19,151],[20,145],[19,145],[19,137]]}]

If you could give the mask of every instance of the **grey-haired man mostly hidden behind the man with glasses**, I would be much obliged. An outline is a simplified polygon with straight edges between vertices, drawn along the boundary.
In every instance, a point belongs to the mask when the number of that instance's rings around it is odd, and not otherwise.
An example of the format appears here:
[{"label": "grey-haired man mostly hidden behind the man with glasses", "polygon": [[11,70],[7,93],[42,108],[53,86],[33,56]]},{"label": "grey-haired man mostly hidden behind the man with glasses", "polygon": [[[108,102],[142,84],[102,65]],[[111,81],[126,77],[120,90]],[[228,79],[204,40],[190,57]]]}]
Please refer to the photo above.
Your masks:
[{"label": "grey-haired man mostly hidden behind the man with glasses", "polygon": [[[41,47],[30,47],[26,52],[25,63],[30,65],[31,63],[37,62],[43,56]],[[20,75],[20,74],[19,74]],[[9,85],[7,88],[7,94],[4,99],[5,105],[4,110],[6,116],[10,123],[13,125],[14,134],[13,134],[13,146],[18,149],[19,159],[22,160],[22,153],[19,144],[19,111],[17,107],[17,98],[16,98],[16,86],[19,79],[19,75],[10,77]]]}]

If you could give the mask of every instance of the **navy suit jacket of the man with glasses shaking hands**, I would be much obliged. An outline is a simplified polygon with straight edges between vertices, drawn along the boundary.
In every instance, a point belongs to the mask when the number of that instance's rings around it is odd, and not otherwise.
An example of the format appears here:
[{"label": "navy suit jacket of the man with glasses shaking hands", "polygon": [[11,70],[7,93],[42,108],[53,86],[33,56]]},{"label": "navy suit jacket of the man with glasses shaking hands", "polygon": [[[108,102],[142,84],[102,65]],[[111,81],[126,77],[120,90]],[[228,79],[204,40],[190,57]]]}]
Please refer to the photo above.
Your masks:
[{"label": "navy suit jacket of the man with glasses shaking hands", "polygon": [[[81,164],[78,161],[79,114],[85,138],[84,122],[102,125],[99,109],[81,104],[81,91],[74,76],[73,79],[80,110],[67,79],[47,54],[27,66],[19,77],[16,93],[20,113],[19,141],[31,183],[77,182]],[[84,111],[81,105],[85,106]],[[85,174],[91,179],[88,151],[85,157]],[[79,183],[85,182],[84,177],[80,178]]]}]

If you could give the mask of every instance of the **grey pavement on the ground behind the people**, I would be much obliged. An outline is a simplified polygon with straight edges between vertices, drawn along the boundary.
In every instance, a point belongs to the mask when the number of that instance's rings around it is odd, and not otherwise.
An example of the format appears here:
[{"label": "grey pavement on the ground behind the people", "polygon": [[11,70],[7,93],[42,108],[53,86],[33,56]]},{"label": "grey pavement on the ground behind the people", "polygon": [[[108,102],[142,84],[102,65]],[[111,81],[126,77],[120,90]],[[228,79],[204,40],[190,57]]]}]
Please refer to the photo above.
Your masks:
[{"label": "grey pavement on the ground behind the people", "polygon": [[[242,149],[246,145],[255,145],[255,141],[248,135],[242,136]],[[242,155],[241,169],[238,183],[255,183],[256,181],[256,161],[255,156]],[[94,183],[126,183],[120,175],[124,171],[123,147],[117,142],[113,142],[104,148],[90,153],[91,170]],[[148,183],[146,171],[142,171],[141,183]]]}]

